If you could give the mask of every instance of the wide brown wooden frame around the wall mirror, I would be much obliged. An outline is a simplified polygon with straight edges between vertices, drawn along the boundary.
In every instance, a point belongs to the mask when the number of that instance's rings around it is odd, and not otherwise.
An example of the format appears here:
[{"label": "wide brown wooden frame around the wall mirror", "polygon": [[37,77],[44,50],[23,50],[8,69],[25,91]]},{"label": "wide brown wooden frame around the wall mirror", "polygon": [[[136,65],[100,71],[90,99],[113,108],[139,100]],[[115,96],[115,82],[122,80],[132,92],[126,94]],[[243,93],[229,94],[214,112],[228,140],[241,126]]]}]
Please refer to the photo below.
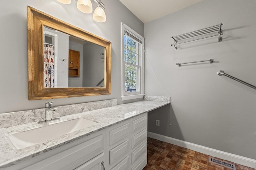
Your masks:
[{"label": "wide brown wooden frame around the wall mirror", "polygon": [[[58,20],[48,14],[27,6],[28,25],[28,100],[42,100],[53,98],[69,98],[78,96],[94,96],[111,94],[111,42],[93,35],[78,27]],[[104,59],[104,86],[101,87],[54,87],[45,85],[45,41],[44,29],[53,29],[57,32],[70,35],[73,39],[80,39],[90,44],[103,47]],[[104,57],[104,58],[103,58]],[[58,58],[62,58],[60,55]],[[59,60],[58,60],[59,61]],[[65,61],[65,59],[62,59]],[[71,62],[72,61],[68,61]],[[78,73],[74,73],[79,76]],[[102,78],[101,78],[102,79]],[[102,83],[103,84],[103,83]]]}]

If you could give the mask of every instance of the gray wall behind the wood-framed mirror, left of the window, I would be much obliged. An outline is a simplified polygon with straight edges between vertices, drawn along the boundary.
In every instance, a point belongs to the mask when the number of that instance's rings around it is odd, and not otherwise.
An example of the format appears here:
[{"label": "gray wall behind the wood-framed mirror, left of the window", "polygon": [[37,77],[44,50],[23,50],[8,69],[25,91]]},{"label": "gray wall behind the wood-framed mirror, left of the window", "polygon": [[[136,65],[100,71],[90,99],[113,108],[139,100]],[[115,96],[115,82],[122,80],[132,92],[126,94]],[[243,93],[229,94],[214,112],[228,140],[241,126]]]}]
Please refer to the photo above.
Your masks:
[{"label": "gray wall behind the wood-framed mirror, left of the window", "polygon": [[[121,22],[123,21],[140,35],[144,35],[144,23],[132,14],[119,0],[104,0],[107,21],[98,23],[92,14],[77,10],[76,1],[69,5],[56,0],[6,0],[0,6],[0,113],[36,109],[54,101],[55,106],[118,99],[121,102]],[[96,3],[92,1],[93,8]],[[28,100],[27,64],[27,16],[26,6],[31,6],[94,35],[112,42],[112,91],[111,95],[63,98],[54,100]]]}]

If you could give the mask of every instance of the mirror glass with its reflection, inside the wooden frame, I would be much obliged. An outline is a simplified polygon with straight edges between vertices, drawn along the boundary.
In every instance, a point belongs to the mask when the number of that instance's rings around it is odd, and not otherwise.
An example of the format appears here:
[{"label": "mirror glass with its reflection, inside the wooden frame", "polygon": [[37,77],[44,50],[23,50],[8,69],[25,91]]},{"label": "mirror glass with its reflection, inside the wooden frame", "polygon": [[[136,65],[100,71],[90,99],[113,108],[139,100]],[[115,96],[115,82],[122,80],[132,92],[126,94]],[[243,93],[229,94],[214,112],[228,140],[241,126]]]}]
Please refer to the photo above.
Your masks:
[{"label": "mirror glass with its reflection, inside the wooden frame", "polygon": [[105,48],[44,26],[44,87],[104,87]]}]

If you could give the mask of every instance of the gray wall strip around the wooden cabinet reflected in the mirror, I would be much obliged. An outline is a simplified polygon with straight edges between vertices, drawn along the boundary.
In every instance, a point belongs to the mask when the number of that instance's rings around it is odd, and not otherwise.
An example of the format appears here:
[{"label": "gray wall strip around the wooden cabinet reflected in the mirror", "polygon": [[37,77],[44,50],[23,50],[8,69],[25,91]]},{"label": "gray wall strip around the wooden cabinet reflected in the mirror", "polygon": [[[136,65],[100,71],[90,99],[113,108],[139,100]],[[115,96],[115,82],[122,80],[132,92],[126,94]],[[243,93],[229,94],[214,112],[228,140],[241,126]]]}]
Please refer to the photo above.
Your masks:
[{"label": "gray wall strip around the wooden cabinet reflected in the mirror", "polygon": [[68,87],[83,87],[83,45],[69,41],[69,49],[80,52],[80,76],[68,76]]}]

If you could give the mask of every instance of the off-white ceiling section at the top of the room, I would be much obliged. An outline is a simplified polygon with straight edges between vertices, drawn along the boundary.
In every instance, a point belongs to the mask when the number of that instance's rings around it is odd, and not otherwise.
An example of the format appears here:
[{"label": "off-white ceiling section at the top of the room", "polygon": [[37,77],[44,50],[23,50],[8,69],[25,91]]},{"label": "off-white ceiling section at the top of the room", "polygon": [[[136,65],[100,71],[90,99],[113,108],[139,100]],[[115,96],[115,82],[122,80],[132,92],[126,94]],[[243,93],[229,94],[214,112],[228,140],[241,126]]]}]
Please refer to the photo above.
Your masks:
[{"label": "off-white ceiling section at the top of the room", "polygon": [[142,22],[161,18],[203,0],[120,0]]}]

